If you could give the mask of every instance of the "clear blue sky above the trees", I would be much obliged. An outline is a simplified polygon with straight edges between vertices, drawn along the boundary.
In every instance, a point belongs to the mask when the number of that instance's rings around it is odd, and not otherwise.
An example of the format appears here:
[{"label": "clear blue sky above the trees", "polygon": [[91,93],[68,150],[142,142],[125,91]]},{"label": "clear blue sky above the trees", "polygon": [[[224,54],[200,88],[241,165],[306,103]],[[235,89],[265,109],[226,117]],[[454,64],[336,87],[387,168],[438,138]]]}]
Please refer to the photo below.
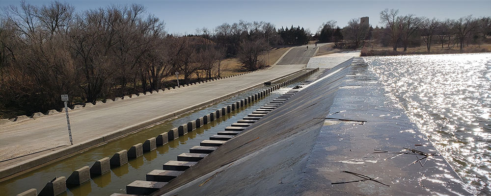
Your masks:
[{"label": "clear blue sky above the trees", "polygon": [[[303,26],[312,32],[325,21],[335,20],[343,27],[352,18],[370,17],[370,24],[379,25],[384,8],[438,19],[457,19],[466,15],[491,16],[491,0],[67,0],[84,11],[111,4],[143,4],[147,12],[164,20],[169,33],[194,33],[196,28],[215,28],[223,23],[246,21],[271,22],[281,26]],[[27,0],[41,5],[49,0]],[[19,5],[19,0],[0,0],[0,6]],[[1,11],[3,12],[3,11]]]}]

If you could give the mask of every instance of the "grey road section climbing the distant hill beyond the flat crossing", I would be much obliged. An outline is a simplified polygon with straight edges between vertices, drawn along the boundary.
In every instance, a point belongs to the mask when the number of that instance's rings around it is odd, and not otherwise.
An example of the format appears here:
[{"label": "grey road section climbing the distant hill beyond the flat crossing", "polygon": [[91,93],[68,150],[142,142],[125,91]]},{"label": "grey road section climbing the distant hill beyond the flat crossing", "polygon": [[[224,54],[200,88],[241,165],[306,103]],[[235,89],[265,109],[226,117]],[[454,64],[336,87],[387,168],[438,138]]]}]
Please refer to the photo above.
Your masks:
[{"label": "grey road section climbing the distant hill beyond the flat crossing", "polygon": [[[317,51],[317,49],[321,46],[326,45],[317,44],[315,47],[314,44],[303,45],[300,47],[295,47],[291,49],[282,59],[278,62],[277,65],[298,65],[298,64],[307,64],[310,57],[313,57]],[[307,49],[308,46],[308,49]]]}]

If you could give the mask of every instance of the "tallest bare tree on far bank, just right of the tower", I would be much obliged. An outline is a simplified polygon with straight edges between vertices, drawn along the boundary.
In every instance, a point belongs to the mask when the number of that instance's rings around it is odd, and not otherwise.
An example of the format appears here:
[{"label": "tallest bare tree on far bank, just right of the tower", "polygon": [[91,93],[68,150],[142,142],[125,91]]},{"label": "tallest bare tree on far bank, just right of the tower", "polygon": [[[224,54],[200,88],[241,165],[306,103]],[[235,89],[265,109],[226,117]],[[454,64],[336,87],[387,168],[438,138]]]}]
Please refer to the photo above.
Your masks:
[{"label": "tallest bare tree on far bank, just right of the tower", "polygon": [[385,9],[380,12],[380,21],[383,25],[390,29],[390,40],[392,43],[392,49],[397,51],[397,46],[401,40],[402,33],[402,20],[398,17],[398,9]]}]

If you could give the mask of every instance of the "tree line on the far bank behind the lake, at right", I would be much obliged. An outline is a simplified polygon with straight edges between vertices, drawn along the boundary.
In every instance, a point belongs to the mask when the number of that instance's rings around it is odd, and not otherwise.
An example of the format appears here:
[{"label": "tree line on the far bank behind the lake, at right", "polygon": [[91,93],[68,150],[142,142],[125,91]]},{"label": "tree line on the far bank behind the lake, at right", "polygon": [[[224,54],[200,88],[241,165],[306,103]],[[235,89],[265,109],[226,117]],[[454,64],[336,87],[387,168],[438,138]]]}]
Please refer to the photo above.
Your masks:
[{"label": "tree line on the far bank behind the lake, at right", "polygon": [[347,48],[364,47],[367,40],[374,40],[394,51],[425,44],[428,52],[432,44],[439,44],[442,49],[445,44],[448,48],[458,45],[463,50],[469,43],[480,45],[486,42],[486,36],[491,36],[489,16],[439,20],[414,14],[402,16],[397,9],[385,9],[380,12],[380,20],[382,26],[373,28],[360,24],[358,18],[351,19],[342,30],[339,26],[334,28],[335,21],[328,21],[319,27],[316,36],[320,42],[334,42],[336,46],[344,39]]}]

